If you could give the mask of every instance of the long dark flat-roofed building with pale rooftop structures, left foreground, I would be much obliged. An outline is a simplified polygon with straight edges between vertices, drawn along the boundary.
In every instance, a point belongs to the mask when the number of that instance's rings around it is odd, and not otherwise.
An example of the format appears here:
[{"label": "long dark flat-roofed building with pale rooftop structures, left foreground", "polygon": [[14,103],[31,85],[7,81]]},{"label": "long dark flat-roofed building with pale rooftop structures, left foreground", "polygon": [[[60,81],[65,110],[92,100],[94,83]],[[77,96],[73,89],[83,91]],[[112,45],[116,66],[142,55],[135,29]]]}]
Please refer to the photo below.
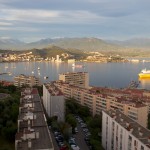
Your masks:
[{"label": "long dark flat-roofed building with pale rooftop structures, left foreground", "polygon": [[15,150],[54,150],[37,89],[21,92]]}]

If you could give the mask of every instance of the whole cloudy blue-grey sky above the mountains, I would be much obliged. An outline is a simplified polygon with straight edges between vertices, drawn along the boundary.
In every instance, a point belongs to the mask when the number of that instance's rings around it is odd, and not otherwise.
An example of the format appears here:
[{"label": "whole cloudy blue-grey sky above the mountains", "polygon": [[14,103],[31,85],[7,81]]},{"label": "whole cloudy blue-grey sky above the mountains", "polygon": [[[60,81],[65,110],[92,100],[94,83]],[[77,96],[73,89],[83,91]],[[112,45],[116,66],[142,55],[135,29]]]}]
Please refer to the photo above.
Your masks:
[{"label": "whole cloudy blue-grey sky above the mountains", "polygon": [[0,0],[0,38],[150,38],[150,0]]}]

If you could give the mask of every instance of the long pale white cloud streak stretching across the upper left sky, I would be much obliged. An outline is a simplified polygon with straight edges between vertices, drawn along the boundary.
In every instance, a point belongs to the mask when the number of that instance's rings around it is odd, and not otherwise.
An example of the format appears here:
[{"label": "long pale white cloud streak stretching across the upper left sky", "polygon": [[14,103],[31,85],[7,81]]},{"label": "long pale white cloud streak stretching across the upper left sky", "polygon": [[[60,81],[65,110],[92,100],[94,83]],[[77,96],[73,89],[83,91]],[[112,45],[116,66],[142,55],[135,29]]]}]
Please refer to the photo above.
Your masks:
[{"label": "long pale white cloud streak stretching across the upper left sky", "polygon": [[23,21],[31,23],[91,23],[100,16],[89,11],[51,11],[41,9],[1,9],[2,19],[7,21]]}]

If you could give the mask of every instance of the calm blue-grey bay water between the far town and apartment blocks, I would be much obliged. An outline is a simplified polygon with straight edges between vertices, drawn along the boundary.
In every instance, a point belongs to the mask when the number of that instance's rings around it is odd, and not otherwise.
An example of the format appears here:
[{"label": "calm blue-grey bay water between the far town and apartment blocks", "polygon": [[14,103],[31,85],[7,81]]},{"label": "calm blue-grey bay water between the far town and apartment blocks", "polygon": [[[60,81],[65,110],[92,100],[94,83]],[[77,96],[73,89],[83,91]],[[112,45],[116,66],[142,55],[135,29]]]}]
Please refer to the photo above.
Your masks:
[{"label": "calm blue-grey bay water between the far town and apartment blocks", "polygon": [[[85,63],[85,68],[72,68],[72,64],[54,62],[0,63],[0,72],[12,73],[11,75],[0,75],[0,80],[13,81],[14,76],[25,74],[35,75],[40,77],[42,82],[48,82],[57,80],[59,73],[86,71],[89,72],[90,85],[124,88],[132,80],[138,82],[138,73],[144,68],[150,69],[150,62]],[[48,76],[48,79],[45,80],[44,76]],[[150,80],[141,80],[140,87],[150,89]]]}]

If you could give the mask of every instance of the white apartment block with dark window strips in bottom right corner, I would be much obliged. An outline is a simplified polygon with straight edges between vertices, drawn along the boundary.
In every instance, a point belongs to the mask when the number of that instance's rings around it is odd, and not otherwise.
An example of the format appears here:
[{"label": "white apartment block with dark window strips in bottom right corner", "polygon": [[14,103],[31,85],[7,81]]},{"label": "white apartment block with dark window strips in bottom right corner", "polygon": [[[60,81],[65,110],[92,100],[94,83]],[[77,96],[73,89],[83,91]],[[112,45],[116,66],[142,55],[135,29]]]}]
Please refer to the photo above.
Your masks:
[{"label": "white apartment block with dark window strips in bottom right corner", "polygon": [[105,150],[150,150],[150,130],[119,110],[103,111],[102,146]]}]

